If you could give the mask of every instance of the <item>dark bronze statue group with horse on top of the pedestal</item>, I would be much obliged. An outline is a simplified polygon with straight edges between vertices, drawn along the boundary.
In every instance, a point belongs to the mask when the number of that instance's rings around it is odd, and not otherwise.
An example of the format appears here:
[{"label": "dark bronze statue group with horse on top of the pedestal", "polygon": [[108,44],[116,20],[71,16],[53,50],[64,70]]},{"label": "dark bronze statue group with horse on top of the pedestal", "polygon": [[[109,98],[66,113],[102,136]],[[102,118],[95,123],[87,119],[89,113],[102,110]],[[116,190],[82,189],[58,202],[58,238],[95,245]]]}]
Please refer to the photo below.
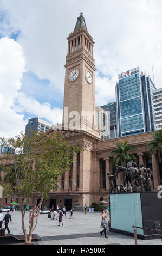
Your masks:
[{"label": "dark bronze statue group with horse on top of the pedestal", "polygon": [[[123,184],[119,186],[117,179],[120,172],[123,173]],[[111,175],[111,173],[108,172],[107,175],[111,193],[131,193],[153,190],[151,170],[149,168],[146,169],[144,164],[140,164],[138,168],[133,160],[127,163],[127,167],[117,165],[115,174]]]}]

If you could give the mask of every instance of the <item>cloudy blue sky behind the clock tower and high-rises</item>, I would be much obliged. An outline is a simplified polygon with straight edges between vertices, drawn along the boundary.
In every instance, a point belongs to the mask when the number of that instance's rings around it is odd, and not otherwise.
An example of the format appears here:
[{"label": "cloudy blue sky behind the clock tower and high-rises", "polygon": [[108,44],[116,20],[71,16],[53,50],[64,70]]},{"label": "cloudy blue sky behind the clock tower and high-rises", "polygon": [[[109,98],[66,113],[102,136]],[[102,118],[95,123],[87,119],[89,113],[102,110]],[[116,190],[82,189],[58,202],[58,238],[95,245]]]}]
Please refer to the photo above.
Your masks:
[{"label": "cloudy blue sky behind the clock tower and high-rises", "polygon": [[80,11],[95,41],[96,106],[114,101],[118,74],[136,66],[152,76],[153,65],[161,87],[159,0],[0,0],[0,10],[0,136],[35,116],[61,123],[66,38]]}]

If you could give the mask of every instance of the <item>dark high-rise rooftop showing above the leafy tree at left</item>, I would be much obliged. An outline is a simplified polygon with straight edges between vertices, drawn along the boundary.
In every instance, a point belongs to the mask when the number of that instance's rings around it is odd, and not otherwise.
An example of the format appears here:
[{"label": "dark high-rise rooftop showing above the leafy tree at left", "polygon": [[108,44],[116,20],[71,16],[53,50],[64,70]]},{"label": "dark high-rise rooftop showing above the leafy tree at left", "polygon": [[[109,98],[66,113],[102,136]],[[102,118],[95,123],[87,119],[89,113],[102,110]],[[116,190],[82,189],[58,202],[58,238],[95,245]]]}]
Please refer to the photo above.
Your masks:
[{"label": "dark high-rise rooftop showing above the leafy tree at left", "polygon": [[46,132],[48,131],[53,125],[44,121],[40,118],[31,118],[28,120],[28,124],[26,125],[25,134],[30,134],[30,130],[38,131],[38,132]]}]

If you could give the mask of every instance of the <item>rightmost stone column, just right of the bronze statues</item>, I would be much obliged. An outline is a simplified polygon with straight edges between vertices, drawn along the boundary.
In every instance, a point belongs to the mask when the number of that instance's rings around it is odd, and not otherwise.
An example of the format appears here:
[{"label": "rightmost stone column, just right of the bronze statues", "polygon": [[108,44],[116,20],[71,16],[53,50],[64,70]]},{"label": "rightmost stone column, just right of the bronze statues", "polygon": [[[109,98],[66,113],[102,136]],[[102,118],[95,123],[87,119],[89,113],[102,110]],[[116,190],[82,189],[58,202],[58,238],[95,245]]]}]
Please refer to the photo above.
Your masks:
[{"label": "rightmost stone column, just right of the bronze statues", "polygon": [[153,171],[153,183],[154,189],[157,190],[160,185],[160,172],[157,154],[152,154],[152,171]]}]

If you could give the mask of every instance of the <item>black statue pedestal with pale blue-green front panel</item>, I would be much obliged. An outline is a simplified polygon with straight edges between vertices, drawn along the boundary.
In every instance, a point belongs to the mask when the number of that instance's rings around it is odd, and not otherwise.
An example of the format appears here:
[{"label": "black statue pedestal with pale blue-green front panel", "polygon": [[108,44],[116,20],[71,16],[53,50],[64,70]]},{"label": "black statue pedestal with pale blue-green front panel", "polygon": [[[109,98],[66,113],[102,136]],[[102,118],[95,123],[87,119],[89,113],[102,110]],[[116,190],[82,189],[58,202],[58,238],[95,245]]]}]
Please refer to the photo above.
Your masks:
[{"label": "black statue pedestal with pale blue-green front panel", "polygon": [[[162,199],[158,192],[137,192],[110,194],[110,231],[134,236],[132,226],[161,230],[162,234]],[[160,225],[160,229],[159,229]],[[137,229],[139,239],[159,239],[155,231]]]}]

